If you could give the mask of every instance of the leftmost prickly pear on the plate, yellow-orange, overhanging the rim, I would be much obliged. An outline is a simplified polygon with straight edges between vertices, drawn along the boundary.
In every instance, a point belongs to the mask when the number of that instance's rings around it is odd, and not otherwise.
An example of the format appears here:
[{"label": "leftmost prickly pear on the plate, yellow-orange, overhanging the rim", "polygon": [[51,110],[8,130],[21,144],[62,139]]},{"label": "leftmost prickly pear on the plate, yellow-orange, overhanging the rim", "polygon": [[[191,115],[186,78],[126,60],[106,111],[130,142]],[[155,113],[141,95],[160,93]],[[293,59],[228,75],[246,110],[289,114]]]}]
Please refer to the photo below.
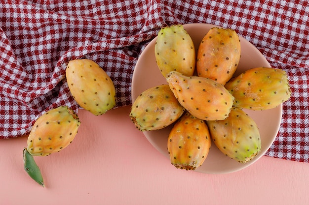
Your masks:
[{"label": "leftmost prickly pear on the plate, yellow-orange, overhanging the rim", "polygon": [[168,85],[143,91],[131,107],[130,118],[141,131],[157,130],[175,122],[185,109]]}]

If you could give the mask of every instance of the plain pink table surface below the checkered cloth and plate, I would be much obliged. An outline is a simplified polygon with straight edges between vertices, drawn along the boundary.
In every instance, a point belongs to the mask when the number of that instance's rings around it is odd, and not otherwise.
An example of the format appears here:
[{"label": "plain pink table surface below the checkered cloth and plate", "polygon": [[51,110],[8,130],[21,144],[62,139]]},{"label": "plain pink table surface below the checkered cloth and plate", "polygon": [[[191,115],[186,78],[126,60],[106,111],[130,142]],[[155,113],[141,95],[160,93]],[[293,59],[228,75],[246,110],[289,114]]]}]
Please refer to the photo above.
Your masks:
[{"label": "plain pink table surface below the checkered cloth and plate", "polygon": [[[174,168],[129,119],[79,110],[72,145],[36,157],[46,187],[23,169],[27,138],[0,141],[0,205],[308,205],[309,164],[263,156],[239,172]],[[120,127],[120,128],[119,128]]]}]

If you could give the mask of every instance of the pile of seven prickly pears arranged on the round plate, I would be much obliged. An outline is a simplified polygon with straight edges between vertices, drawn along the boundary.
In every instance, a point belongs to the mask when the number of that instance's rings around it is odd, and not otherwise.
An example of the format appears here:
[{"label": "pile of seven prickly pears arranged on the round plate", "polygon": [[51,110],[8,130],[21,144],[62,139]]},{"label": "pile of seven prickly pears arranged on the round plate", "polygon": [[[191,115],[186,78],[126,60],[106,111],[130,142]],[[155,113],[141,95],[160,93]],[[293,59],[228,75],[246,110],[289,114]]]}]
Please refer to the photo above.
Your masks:
[{"label": "pile of seven prickly pears arranged on the round plate", "polygon": [[161,87],[170,90],[145,90],[133,102],[130,118],[141,131],[172,126],[167,148],[176,168],[201,166],[211,139],[227,157],[239,163],[252,160],[261,150],[260,133],[243,109],[267,110],[290,98],[283,70],[248,68],[235,76],[240,50],[233,29],[211,28],[197,52],[182,25],[158,32],[155,60],[167,82]]}]

